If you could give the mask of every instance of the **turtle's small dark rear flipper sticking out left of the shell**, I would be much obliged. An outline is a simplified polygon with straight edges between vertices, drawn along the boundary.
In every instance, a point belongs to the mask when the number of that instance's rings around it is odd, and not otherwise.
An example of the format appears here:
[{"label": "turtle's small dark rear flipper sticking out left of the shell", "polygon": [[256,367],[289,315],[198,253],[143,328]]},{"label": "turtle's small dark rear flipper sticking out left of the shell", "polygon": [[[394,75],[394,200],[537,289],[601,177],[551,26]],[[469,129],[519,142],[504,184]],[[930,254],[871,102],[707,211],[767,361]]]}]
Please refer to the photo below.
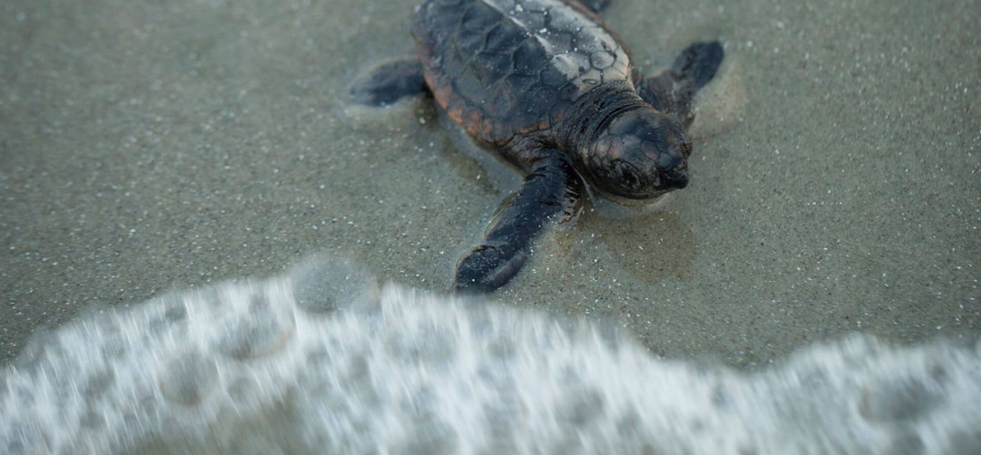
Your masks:
[{"label": "turtle's small dark rear flipper sticking out left of the shell", "polygon": [[387,106],[406,96],[426,93],[423,66],[417,59],[395,60],[375,67],[351,85],[355,103]]}]

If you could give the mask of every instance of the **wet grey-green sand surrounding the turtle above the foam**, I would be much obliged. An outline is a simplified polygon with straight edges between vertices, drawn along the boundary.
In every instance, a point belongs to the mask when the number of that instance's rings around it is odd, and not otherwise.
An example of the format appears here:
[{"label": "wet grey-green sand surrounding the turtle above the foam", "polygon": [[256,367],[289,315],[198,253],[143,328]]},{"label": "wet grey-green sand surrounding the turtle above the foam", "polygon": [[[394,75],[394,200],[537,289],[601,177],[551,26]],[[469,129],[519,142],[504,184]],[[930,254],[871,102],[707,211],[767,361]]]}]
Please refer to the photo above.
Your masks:
[{"label": "wet grey-green sand surrounding the turtle above the foam", "polygon": [[[501,301],[749,368],[853,331],[981,331],[981,8],[613,2],[647,72],[726,46],[692,183],[633,217],[588,208]],[[461,153],[429,100],[346,102],[414,52],[412,5],[0,6],[0,361],[82,310],[314,253],[448,288],[514,178]]]}]

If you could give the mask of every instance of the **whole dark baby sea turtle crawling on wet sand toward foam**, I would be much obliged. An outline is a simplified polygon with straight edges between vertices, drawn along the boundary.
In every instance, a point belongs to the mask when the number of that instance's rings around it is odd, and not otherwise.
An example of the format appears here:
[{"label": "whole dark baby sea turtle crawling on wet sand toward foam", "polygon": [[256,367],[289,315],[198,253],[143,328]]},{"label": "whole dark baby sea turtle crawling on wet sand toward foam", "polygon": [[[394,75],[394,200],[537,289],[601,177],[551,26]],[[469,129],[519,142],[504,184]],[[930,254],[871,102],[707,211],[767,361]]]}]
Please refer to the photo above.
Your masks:
[{"label": "whole dark baby sea turtle crawling on wet sand toward foam", "polygon": [[430,92],[524,173],[483,244],[457,264],[458,290],[514,277],[545,229],[579,216],[585,182],[629,199],[688,184],[692,97],[715,76],[722,46],[692,44],[669,70],[643,77],[596,16],[605,3],[428,0],[412,28],[418,58],[383,64],[351,87],[355,102],[372,106]]}]

